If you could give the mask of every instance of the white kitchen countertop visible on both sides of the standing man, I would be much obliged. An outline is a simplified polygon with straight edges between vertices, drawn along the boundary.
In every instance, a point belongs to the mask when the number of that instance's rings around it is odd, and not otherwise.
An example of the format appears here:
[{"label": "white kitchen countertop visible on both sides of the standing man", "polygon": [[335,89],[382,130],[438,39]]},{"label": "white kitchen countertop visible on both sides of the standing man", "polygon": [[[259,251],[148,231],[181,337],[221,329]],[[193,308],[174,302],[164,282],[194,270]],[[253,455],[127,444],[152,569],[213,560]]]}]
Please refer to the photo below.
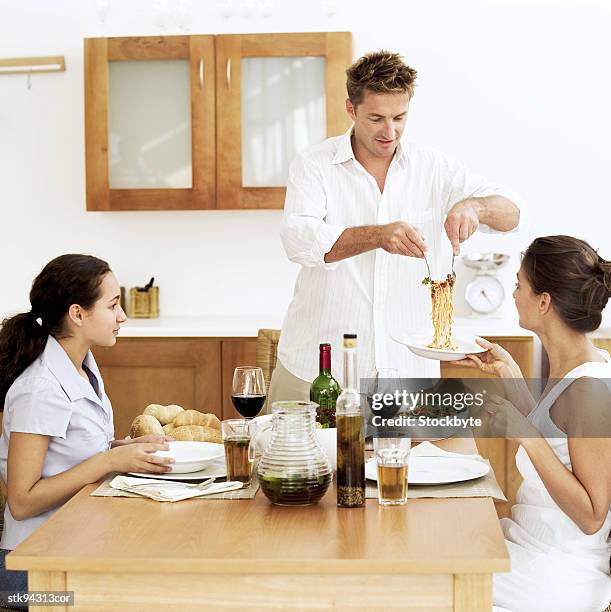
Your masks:
[{"label": "white kitchen countertop visible on both sides of the standing man", "polygon": [[[284,314],[209,315],[202,317],[161,316],[158,319],[128,319],[119,332],[124,338],[255,338],[259,329],[280,329]],[[530,338],[517,319],[456,317],[457,335],[511,336]]]}]

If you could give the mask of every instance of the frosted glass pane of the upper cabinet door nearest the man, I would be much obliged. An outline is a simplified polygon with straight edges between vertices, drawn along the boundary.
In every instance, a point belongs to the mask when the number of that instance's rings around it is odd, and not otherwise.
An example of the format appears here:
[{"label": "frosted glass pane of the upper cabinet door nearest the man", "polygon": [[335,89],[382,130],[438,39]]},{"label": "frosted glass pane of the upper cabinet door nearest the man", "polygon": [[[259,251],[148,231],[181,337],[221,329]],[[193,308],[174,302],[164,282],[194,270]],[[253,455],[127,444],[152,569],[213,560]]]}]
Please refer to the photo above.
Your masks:
[{"label": "frosted glass pane of the upper cabinet door nearest the man", "polygon": [[324,57],[242,60],[242,185],[284,187],[289,163],[327,134]]}]

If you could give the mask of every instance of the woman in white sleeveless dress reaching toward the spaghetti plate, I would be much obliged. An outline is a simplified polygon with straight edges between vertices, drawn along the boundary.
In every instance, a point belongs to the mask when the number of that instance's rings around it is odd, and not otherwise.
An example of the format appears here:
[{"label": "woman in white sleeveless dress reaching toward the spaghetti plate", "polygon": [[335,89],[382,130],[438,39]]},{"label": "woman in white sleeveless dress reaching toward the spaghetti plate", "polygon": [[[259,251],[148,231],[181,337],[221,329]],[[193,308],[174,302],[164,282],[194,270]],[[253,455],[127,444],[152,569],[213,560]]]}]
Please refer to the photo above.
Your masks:
[{"label": "woman in white sleeveless dress reaching toward the spaghetti plate", "polygon": [[497,435],[520,443],[523,482],[501,519],[511,572],[494,576],[494,610],[600,612],[611,600],[611,357],[587,334],[611,297],[611,261],[583,240],[545,236],[517,280],[520,325],[549,358],[540,399],[498,344],[480,340],[485,353],[456,362],[502,379],[507,398],[486,411]]}]

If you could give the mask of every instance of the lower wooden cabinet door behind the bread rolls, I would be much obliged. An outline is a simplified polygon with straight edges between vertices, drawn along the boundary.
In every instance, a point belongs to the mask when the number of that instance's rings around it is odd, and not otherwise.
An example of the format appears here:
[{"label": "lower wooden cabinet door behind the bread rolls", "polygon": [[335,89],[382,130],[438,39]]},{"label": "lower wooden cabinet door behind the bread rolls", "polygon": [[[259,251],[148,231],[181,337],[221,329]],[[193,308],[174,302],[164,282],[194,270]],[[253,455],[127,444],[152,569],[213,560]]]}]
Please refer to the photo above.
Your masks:
[{"label": "lower wooden cabinet door behind the bread rolls", "polygon": [[129,433],[148,404],[178,404],[222,418],[219,340],[119,338],[94,354],[113,406],[116,438]]}]

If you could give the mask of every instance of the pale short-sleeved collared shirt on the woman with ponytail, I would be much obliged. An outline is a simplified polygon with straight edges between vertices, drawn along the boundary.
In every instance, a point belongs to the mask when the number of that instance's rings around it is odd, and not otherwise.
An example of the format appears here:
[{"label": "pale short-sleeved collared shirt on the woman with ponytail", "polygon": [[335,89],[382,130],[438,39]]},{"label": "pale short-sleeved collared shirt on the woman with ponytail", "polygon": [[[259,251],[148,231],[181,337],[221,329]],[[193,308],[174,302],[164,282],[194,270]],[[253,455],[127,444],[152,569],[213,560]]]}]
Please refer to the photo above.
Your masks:
[{"label": "pale short-sleeved collared shirt on the woman with ponytail", "polygon": [[[40,357],[11,385],[0,437],[0,475],[4,482],[12,432],[49,436],[41,478],[65,472],[110,448],[114,440],[112,407],[91,352],[83,365],[89,370],[91,383],[80,376],[61,344],[49,336]],[[97,386],[97,393],[92,384]],[[17,521],[6,504],[0,548],[13,550],[55,510]]]}]

